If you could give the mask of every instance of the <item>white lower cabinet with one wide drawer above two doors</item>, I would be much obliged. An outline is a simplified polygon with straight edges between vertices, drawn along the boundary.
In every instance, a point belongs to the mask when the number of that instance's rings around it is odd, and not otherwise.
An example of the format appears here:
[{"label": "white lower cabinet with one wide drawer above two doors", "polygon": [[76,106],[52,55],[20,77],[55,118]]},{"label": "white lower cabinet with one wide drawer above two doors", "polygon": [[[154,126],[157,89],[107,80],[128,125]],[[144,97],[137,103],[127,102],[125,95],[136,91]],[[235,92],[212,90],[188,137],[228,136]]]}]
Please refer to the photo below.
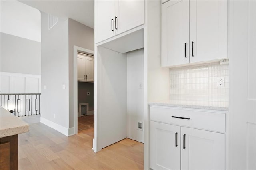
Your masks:
[{"label": "white lower cabinet with one wide drawer above two doors", "polygon": [[[167,113],[169,116],[164,117]],[[197,117],[198,115],[201,117]],[[212,119],[218,118],[220,124],[215,122],[215,125],[219,128],[207,126],[204,115]],[[205,123],[205,128],[204,126],[200,126],[201,129],[192,128],[197,126],[194,124],[197,122],[196,118]],[[222,125],[222,121],[225,122],[223,113],[150,107],[150,168],[224,170],[225,134],[208,131],[208,129],[222,131],[222,126],[225,126]]]}]

